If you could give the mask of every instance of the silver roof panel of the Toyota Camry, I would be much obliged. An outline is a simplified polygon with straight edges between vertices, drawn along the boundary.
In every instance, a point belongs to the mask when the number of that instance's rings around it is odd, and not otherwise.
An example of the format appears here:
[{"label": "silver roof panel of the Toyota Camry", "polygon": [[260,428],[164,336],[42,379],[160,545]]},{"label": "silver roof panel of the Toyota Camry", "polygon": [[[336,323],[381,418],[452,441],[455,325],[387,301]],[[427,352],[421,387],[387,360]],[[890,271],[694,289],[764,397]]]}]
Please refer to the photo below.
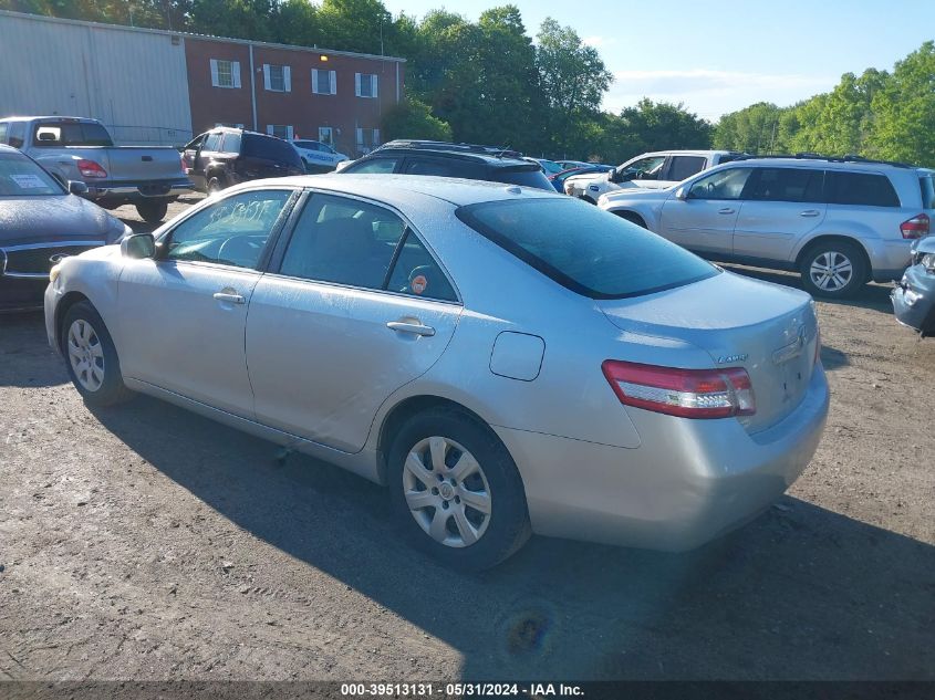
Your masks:
[{"label": "silver roof panel of the Toyota Camry", "polygon": [[561,197],[554,190],[549,192],[537,187],[521,187],[506,182],[469,180],[427,175],[297,175],[267,180],[253,180],[239,188],[249,189],[257,185],[285,185],[288,187],[314,187],[339,194],[373,198],[392,206],[405,207],[414,203],[413,195],[433,197],[461,207],[484,201],[516,199],[517,197]]}]

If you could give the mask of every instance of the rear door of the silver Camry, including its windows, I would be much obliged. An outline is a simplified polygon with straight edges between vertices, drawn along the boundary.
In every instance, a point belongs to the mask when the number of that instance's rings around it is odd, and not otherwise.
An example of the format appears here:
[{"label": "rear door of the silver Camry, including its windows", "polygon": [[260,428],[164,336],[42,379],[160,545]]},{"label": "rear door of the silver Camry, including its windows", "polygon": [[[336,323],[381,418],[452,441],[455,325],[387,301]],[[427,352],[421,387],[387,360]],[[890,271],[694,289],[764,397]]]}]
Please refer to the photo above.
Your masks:
[{"label": "rear door of the silver Camry, including its windows", "polygon": [[444,270],[398,213],[312,194],[250,301],[257,419],[359,451],[381,404],[441,356],[460,313]]}]

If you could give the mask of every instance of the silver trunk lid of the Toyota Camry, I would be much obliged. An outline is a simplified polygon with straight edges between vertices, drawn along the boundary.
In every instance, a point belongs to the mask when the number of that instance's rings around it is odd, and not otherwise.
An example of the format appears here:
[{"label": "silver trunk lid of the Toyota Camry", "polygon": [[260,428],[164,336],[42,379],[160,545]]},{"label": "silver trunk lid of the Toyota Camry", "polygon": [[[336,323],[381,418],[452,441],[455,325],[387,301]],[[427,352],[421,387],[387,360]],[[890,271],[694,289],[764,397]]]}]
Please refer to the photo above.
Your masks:
[{"label": "silver trunk lid of the Toyota Camry", "polygon": [[757,411],[738,420],[750,432],[776,425],[806,394],[818,323],[804,292],[723,272],[656,294],[598,304],[622,330],[688,342],[710,355],[713,367],[746,369]]}]

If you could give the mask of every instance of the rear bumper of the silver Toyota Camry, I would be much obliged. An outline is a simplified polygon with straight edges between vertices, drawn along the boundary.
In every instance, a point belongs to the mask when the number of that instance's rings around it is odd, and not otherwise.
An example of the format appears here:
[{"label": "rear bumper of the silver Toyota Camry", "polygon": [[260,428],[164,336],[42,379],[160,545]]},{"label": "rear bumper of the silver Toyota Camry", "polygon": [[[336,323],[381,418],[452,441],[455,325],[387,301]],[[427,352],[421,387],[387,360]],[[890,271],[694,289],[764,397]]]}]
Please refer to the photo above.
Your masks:
[{"label": "rear bumper of the silver Toyota Camry", "polygon": [[497,433],[519,467],[534,532],[684,551],[744,524],[786,491],[818,448],[828,406],[819,366],[796,410],[756,435],[735,419],[640,409],[628,411],[642,439],[636,449]]}]

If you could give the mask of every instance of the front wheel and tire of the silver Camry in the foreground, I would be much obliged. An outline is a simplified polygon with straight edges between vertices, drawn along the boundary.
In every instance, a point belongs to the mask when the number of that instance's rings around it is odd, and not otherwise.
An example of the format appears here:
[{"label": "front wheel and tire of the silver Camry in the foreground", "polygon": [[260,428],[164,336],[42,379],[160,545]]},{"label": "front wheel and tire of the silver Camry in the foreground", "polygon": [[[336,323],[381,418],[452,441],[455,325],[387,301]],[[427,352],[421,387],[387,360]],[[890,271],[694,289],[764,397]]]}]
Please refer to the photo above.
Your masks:
[{"label": "front wheel and tire of the silver Camry in the foreground", "polygon": [[123,383],[107,326],[90,302],[79,302],[65,312],[61,337],[65,367],[85,404],[113,406],[133,397]]}]

